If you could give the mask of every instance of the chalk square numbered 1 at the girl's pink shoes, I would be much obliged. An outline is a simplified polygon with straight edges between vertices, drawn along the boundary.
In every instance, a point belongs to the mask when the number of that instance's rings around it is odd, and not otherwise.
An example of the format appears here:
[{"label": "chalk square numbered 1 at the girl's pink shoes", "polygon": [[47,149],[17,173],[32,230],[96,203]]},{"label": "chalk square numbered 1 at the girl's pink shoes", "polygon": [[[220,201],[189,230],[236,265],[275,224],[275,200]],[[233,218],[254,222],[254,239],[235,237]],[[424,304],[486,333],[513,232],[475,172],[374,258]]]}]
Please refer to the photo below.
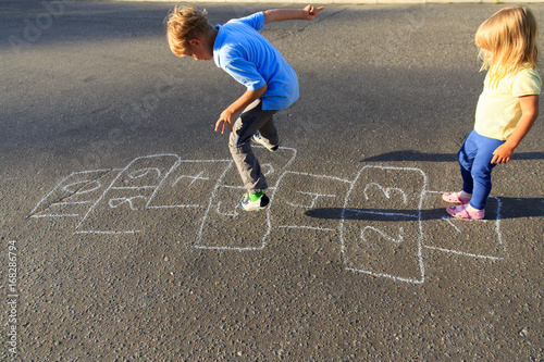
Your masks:
[{"label": "chalk square numbered 1 at the girl's pink shoes", "polygon": [[503,259],[506,248],[500,233],[500,199],[490,197],[484,220],[460,220],[446,213],[444,192],[428,192],[423,198],[422,228],[426,248],[467,254],[473,258]]}]

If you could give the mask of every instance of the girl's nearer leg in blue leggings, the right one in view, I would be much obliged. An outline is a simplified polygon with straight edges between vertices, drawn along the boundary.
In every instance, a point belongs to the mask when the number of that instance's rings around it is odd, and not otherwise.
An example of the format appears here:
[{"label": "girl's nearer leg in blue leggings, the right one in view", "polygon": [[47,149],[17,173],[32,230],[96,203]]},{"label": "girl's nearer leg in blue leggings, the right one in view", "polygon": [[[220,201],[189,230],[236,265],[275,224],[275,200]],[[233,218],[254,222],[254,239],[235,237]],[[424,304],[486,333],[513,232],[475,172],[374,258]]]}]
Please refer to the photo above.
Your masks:
[{"label": "girl's nearer leg in blue leggings, the right one in view", "polygon": [[478,153],[474,158],[471,170],[473,191],[472,199],[469,204],[477,210],[483,210],[491,192],[491,172],[496,165],[491,163],[493,152],[505,141],[480,136],[478,134],[475,134],[474,138],[478,142]]}]

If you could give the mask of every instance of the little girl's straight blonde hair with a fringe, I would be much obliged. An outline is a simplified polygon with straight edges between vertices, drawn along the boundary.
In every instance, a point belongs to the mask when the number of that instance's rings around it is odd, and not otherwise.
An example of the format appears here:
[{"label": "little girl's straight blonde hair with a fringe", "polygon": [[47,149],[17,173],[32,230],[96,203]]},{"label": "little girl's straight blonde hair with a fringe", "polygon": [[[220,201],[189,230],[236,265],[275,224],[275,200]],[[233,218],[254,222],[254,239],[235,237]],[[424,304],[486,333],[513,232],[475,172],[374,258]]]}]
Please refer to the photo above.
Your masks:
[{"label": "little girl's straight blonde hair with a fringe", "polygon": [[[480,47],[481,71],[490,70],[492,84],[515,75],[524,66],[539,65],[537,24],[526,7],[505,8],[487,18],[474,36]],[[491,57],[486,57],[486,53]]]}]

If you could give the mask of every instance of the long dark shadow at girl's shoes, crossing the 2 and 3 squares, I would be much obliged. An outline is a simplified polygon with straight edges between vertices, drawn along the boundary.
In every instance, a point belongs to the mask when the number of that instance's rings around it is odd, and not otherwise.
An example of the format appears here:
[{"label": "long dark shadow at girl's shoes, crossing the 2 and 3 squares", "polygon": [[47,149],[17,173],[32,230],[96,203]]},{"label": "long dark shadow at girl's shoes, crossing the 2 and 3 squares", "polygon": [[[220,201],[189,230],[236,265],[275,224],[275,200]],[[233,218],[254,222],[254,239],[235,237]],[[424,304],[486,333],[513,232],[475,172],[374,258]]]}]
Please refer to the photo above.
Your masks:
[{"label": "long dark shadow at girl's shoes, crossing the 2 and 3 squares", "polygon": [[[498,208],[500,207],[500,208]],[[367,220],[367,221],[404,221],[404,220],[440,220],[450,217],[446,204],[438,209],[421,210],[393,210],[393,209],[343,209],[322,208],[306,211],[306,215],[316,219],[333,220]],[[544,216],[544,198],[490,198],[486,208],[486,220],[542,217]]]}]

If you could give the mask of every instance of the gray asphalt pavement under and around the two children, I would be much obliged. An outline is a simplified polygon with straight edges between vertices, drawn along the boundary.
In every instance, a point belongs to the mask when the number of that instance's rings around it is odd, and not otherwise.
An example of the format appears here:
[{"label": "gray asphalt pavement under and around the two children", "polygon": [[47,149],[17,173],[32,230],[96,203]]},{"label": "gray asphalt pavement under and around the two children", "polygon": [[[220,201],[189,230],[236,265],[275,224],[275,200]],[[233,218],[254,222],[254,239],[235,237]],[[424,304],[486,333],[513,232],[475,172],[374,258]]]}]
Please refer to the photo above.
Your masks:
[{"label": "gray asphalt pavement under and around the two children", "polygon": [[0,2],[1,360],[544,360],[542,120],[484,221],[441,200],[482,90],[473,34],[505,5],[267,25],[300,99],[256,148],[256,213],[213,132],[244,88],[171,53],[173,5]]}]

